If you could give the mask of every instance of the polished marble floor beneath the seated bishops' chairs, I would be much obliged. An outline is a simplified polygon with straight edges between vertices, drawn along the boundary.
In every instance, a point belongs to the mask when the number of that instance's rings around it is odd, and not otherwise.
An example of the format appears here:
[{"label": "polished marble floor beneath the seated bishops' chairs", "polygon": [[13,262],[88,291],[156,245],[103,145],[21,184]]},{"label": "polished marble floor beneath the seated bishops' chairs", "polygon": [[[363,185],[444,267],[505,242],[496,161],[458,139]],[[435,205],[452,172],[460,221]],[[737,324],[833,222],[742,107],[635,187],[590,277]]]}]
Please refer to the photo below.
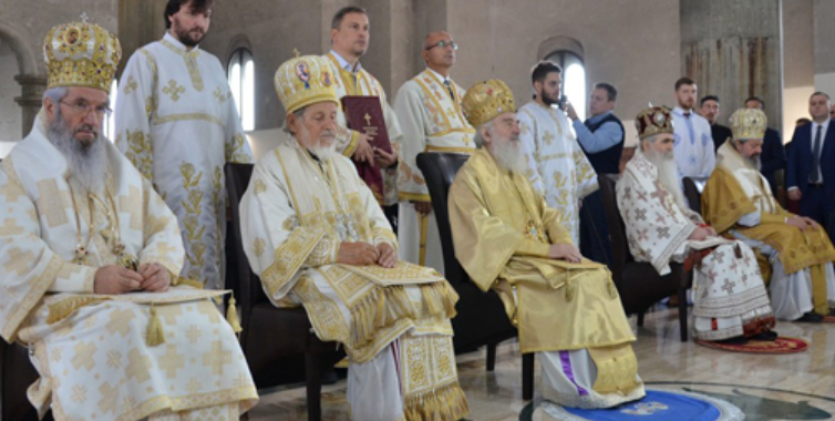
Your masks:
[{"label": "polished marble floor beneath the seated bishops' chairs", "polygon": [[[741,408],[746,421],[835,420],[835,324],[779,322],[782,336],[810,342],[793,355],[732,353],[679,340],[678,310],[660,308],[638,328],[635,351],[639,373],[648,388],[705,393]],[[534,402],[522,400],[522,358],[515,342],[499,347],[496,370],[486,372],[484,351],[458,356],[461,384],[467,393],[473,421],[545,421]],[[539,388],[537,368],[536,388]],[[305,389],[261,391],[249,420],[306,420]],[[346,382],[323,389],[326,421],[349,420]]]}]

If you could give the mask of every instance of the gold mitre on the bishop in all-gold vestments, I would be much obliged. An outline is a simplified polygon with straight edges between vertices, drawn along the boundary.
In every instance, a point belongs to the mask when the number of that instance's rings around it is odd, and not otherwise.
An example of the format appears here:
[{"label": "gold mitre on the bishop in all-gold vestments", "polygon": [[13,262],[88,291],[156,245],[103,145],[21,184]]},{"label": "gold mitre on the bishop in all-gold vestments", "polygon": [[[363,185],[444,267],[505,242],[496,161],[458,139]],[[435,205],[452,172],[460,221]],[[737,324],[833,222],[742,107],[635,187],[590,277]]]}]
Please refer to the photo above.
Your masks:
[{"label": "gold mitre on the bishop in all-gold vestments", "polygon": [[461,106],[473,127],[478,127],[499,114],[516,112],[513,91],[498,79],[477,82],[471,86],[464,94]]}]

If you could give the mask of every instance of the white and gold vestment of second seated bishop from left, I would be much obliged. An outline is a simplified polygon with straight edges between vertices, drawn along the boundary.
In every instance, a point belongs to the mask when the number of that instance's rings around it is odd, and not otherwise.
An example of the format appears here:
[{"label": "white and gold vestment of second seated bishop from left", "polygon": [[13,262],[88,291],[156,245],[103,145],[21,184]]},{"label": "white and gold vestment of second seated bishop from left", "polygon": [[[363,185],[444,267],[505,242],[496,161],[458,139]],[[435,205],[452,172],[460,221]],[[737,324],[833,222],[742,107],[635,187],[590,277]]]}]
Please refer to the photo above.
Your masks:
[{"label": "white and gold vestment of second seated bishop from left", "polygon": [[[240,204],[244,248],[266,295],[276,306],[303,305],[317,336],[340,342],[352,370],[388,358],[394,345],[401,358],[388,371],[401,378],[400,411],[408,419],[412,410],[461,418],[444,403],[466,405],[450,324],[457,295],[436,271],[405,261],[395,269],[338,264],[342,242],[396,248],[394,234],[350,160],[316,161],[282,136],[256,164]],[[352,387],[349,381],[349,397]],[[357,412],[360,402],[377,401],[385,390],[374,393],[349,398],[357,419],[364,419]]]}]

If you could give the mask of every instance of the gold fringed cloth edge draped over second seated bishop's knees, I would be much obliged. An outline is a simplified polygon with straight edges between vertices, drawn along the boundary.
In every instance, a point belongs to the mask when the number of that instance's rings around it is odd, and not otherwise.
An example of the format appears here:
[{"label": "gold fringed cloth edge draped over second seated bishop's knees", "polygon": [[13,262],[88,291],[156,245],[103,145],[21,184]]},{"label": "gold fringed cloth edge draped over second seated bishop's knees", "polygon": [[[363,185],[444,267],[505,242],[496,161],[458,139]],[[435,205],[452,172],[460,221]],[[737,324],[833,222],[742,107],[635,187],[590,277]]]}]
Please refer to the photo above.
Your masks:
[{"label": "gold fringed cloth edge draped over second seated bishop's knees", "polygon": [[415,308],[402,285],[375,288],[351,307],[352,348],[373,342],[377,332],[401,319],[455,317],[458,299],[449,283],[419,285],[424,308]]}]

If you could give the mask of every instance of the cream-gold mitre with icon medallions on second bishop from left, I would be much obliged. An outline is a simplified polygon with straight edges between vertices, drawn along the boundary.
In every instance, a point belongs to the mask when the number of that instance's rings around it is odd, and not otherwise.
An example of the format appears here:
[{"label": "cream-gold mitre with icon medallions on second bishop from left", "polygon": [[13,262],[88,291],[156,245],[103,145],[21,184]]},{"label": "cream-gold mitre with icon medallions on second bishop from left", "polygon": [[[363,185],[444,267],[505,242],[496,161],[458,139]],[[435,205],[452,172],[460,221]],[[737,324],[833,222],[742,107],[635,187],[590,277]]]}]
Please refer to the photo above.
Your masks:
[{"label": "cream-gold mitre with icon medallions on second bishop from left", "polygon": [[318,102],[336,102],[337,86],[328,59],[303,55],[290,59],[276,71],[276,92],[287,114]]}]

